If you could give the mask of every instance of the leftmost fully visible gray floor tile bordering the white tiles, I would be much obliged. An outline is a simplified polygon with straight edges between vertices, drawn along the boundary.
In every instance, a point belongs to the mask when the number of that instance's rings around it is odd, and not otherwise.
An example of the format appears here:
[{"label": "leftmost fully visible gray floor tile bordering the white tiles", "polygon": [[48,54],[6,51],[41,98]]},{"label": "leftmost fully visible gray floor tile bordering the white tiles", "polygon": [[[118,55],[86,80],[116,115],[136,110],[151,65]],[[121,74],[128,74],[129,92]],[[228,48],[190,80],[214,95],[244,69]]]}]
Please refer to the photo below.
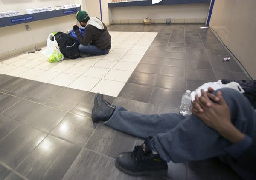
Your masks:
[{"label": "leftmost fully visible gray floor tile bordering the white tiles", "polygon": [[13,94],[18,97],[26,97],[32,92],[34,92],[36,89],[38,89],[40,86],[42,86],[44,83],[28,80],[25,83],[21,84],[20,86],[17,86],[15,89],[12,89],[9,91],[9,94]]}]

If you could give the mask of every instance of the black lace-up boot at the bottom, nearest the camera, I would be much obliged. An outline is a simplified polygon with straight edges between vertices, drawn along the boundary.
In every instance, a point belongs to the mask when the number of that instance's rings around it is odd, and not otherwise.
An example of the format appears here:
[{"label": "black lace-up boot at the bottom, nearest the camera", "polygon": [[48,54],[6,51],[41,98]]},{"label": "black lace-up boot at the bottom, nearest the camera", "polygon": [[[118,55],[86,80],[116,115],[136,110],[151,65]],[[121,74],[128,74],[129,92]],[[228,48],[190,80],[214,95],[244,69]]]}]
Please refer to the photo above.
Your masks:
[{"label": "black lace-up boot at the bottom, nearest the camera", "polygon": [[122,152],[116,157],[115,165],[121,171],[132,176],[166,176],[168,166],[158,154],[152,153],[150,138],[141,146],[135,146],[132,152]]}]

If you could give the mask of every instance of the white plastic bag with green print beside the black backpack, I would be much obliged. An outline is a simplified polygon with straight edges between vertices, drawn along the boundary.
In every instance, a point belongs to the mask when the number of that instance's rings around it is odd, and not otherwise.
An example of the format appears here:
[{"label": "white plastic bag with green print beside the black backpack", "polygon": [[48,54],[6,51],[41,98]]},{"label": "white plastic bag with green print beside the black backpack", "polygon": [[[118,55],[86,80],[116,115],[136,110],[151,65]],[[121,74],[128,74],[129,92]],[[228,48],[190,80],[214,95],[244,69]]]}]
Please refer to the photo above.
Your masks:
[{"label": "white plastic bag with green print beside the black backpack", "polygon": [[[53,41],[50,39],[51,36],[53,37]],[[61,53],[58,43],[52,33],[49,34],[47,38],[47,48],[42,51],[42,54],[44,54],[51,63],[64,59],[64,55]]]}]

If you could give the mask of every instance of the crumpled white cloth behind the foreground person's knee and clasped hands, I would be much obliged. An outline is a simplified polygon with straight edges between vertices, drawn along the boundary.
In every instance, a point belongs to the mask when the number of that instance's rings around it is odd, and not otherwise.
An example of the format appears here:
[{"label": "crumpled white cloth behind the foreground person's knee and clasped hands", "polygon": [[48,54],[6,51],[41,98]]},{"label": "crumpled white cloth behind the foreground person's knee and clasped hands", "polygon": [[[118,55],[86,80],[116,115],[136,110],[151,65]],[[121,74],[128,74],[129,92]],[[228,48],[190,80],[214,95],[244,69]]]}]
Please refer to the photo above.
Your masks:
[{"label": "crumpled white cloth behind the foreground person's knee and clasped hands", "polygon": [[197,94],[199,97],[202,95],[201,94],[201,89],[204,89],[204,91],[207,91],[209,87],[212,87],[212,89],[217,90],[220,88],[232,88],[236,89],[240,93],[244,93],[244,89],[239,85],[239,83],[236,82],[230,82],[227,84],[222,84],[221,80],[218,80],[217,82],[209,82],[209,83],[204,83],[202,86],[198,87],[195,91],[191,92],[190,97],[191,100],[195,100],[195,95]]}]

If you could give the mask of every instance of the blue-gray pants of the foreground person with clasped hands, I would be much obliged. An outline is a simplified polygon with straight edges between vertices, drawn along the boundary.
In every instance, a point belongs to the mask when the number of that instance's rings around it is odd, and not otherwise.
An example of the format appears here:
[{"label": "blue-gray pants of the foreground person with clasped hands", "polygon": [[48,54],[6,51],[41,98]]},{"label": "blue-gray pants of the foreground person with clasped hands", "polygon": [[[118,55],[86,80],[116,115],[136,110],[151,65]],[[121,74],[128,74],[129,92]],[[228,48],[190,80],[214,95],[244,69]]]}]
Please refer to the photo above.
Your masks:
[{"label": "blue-gray pants of the foreground person with clasped hands", "polygon": [[[256,113],[247,98],[230,88],[222,88],[218,91],[222,92],[230,108],[232,123],[241,132],[256,140]],[[213,92],[215,93],[216,91]],[[179,163],[226,156],[228,154],[224,148],[231,145],[217,131],[209,128],[193,114],[148,115],[129,112],[121,106],[116,106],[113,115],[105,124],[136,137],[152,136],[153,149],[167,162],[172,160],[174,163]],[[229,162],[225,163],[229,164]],[[233,169],[235,170],[236,167]]]}]

